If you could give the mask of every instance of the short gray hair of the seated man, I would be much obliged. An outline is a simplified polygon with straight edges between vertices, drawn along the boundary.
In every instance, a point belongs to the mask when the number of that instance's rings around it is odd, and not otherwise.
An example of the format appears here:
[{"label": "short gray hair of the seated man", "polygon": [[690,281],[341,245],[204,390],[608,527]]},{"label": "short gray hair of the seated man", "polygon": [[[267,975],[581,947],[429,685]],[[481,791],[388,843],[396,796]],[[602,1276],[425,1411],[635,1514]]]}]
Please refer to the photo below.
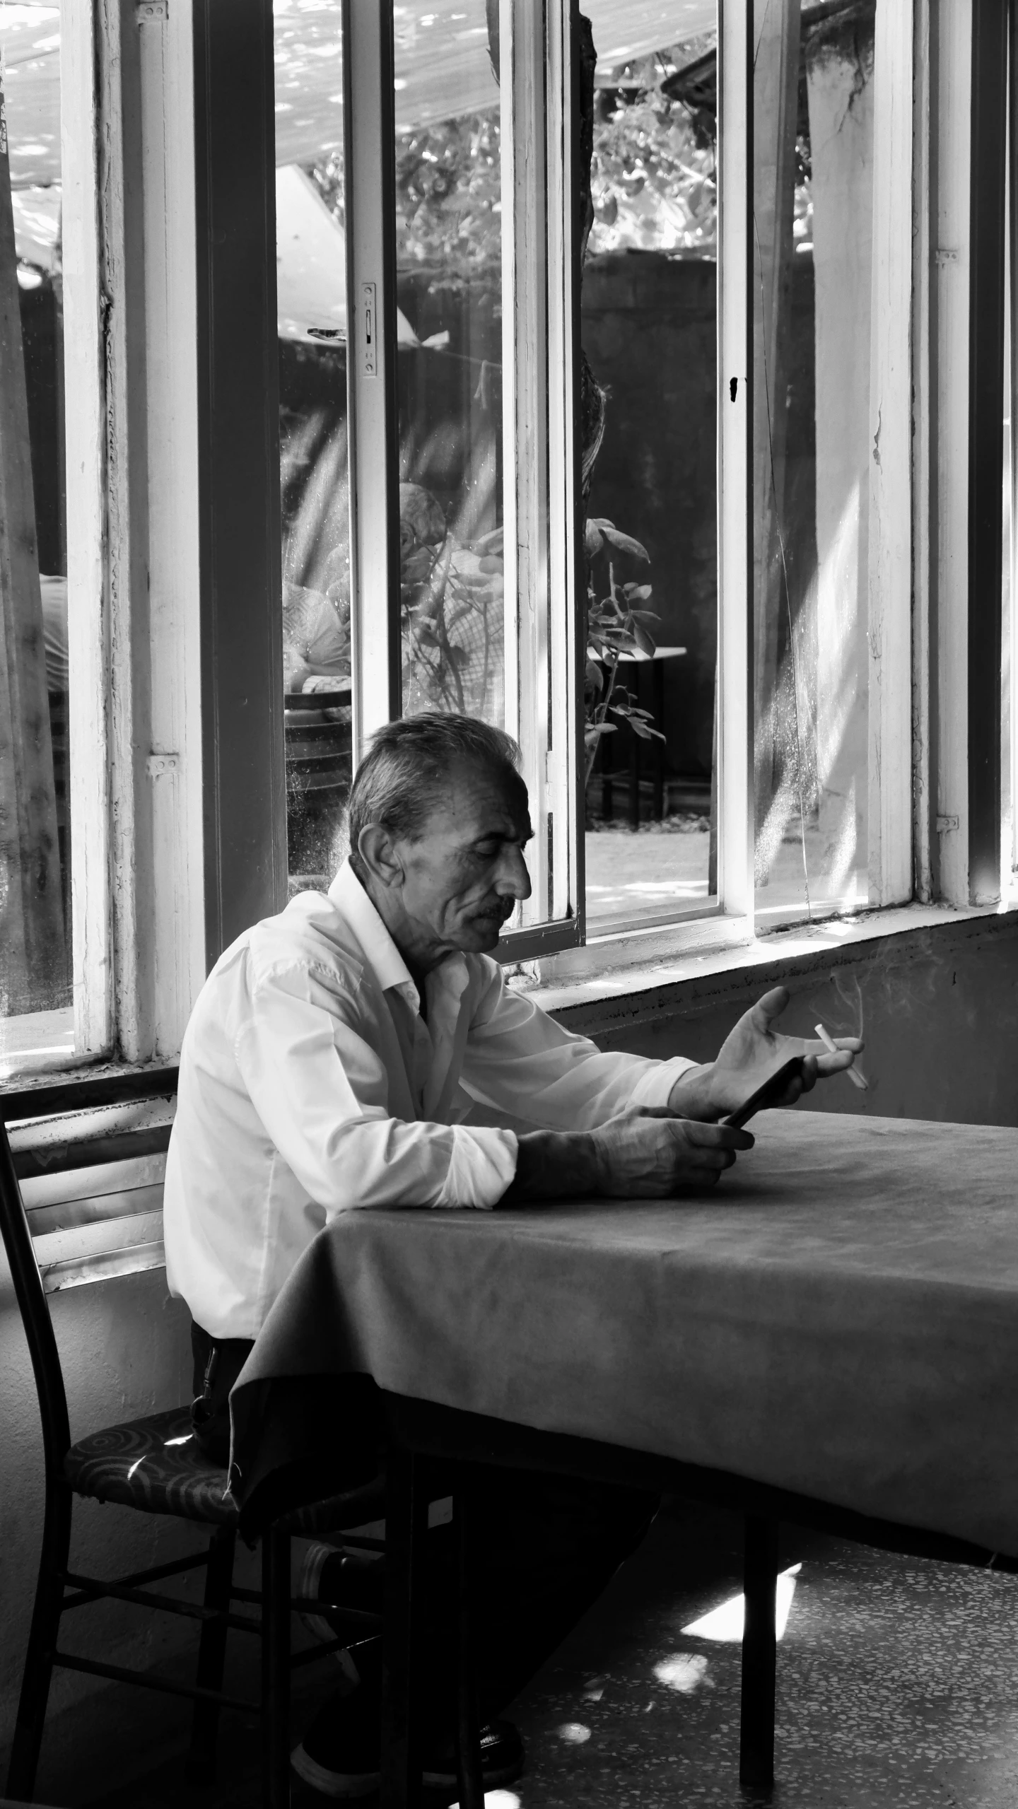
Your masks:
[{"label": "short gray hair of the seated man", "polygon": [[483,763],[523,787],[519,758],[512,734],[476,716],[423,711],[387,722],[371,736],[347,803],[351,867],[358,877],[365,877],[358,845],[369,823],[382,823],[394,839],[414,841],[454,767]]}]

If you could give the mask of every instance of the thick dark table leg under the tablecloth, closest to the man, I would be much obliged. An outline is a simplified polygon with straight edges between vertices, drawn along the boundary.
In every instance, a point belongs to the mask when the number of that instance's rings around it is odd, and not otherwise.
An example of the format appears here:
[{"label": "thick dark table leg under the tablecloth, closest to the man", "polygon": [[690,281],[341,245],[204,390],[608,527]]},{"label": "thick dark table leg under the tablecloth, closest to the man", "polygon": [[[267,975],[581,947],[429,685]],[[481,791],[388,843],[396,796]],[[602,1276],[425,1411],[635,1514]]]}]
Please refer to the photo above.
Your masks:
[{"label": "thick dark table leg under the tablecloth, closest to the man", "polygon": [[385,1467],[385,1624],[382,1634],[380,1809],[418,1809],[421,1601],[427,1541],[423,1462],[391,1451]]}]

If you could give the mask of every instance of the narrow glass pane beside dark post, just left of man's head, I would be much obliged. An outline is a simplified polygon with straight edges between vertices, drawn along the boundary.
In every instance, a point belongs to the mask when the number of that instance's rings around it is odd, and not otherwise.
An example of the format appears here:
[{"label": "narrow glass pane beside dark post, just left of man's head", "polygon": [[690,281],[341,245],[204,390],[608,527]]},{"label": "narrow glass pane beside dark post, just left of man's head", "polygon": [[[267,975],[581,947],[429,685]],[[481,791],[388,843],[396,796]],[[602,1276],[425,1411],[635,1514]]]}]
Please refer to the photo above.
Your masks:
[{"label": "narrow glass pane beside dark post, just left of man's head", "polygon": [[289,888],[327,886],[351,781],[342,11],[277,0],[277,289]]}]

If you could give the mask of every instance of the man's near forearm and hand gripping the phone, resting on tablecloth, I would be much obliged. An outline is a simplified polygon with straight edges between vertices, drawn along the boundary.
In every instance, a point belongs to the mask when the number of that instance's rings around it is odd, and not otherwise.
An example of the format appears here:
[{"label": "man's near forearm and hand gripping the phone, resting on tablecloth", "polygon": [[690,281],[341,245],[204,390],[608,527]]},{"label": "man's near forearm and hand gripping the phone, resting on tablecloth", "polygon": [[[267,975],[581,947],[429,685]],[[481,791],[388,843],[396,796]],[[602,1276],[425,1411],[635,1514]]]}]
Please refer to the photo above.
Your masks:
[{"label": "man's near forearm and hand gripping the phone, resting on tablecloth", "polygon": [[749,1131],[674,1118],[667,1109],[620,1113],[597,1131],[532,1131],[519,1138],[515,1179],[501,1205],[523,1199],[667,1199],[714,1187]]}]

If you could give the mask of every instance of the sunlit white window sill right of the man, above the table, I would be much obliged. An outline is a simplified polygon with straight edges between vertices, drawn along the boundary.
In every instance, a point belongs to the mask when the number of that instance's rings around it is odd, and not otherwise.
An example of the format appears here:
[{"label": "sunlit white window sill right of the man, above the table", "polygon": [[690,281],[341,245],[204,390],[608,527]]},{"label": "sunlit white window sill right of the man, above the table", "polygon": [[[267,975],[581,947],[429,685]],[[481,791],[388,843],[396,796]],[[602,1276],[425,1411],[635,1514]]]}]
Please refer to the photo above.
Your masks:
[{"label": "sunlit white window sill right of the man, above the table", "polygon": [[636,932],[588,942],[586,948],[530,962],[514,975],[512,984],[546,1011],[582,1011],[622,999],[633,1000],[638,1009],[640,997],[649,1006],[651,995],[674,986],[696,988],[696,982],[716,980],[721,975],[749,977],[758,968],[776,964],[823,966],[832,959],[843,961],[852,950],[862,950],[866,942],[884,937],[908,937],[984,919],[1018,923],[1018,899],[1009,897],[1002,904],[969,910],[902,904],[864,912],[859,917],[799,923],[765,935],[754,935],[745,917],[709,917],[698,924],[673,924],[667,932]]}]

